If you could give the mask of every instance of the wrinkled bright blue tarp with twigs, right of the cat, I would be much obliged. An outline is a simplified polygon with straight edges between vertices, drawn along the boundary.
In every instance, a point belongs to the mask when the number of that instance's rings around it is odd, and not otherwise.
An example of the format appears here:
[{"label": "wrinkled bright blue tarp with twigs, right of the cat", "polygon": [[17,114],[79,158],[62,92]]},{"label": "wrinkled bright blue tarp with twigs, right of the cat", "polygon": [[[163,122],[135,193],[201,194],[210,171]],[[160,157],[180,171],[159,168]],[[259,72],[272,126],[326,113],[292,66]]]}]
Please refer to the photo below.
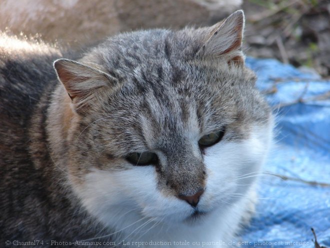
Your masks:
[{"label": "wrinkled bright blue tarp with twigs, right of the cat", "polygon": [[[263,171],[330,184],[330,80],[272,59],[246,64],[276,115]],[[314,247],[311,227],[330,247],[330,186],[262,175],[258,191],[256,215],[241,235],[245,247]]]}]

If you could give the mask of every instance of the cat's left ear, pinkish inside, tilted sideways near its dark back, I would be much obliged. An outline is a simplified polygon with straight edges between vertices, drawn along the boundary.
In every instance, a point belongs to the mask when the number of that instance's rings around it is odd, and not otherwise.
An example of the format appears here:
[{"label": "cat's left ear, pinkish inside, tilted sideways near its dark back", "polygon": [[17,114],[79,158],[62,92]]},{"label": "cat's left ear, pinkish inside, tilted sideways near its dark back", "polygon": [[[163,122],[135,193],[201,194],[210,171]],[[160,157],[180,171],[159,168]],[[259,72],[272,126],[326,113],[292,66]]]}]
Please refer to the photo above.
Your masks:
[{"label": "cat's left ear, pinkish inside, tilted sideways near its dark back", "polygon": [[116,78],[96,67],[73,60],[58,59],[53,65],[72,103],[80,107],[91,100],[96,92],[117,82]]}]

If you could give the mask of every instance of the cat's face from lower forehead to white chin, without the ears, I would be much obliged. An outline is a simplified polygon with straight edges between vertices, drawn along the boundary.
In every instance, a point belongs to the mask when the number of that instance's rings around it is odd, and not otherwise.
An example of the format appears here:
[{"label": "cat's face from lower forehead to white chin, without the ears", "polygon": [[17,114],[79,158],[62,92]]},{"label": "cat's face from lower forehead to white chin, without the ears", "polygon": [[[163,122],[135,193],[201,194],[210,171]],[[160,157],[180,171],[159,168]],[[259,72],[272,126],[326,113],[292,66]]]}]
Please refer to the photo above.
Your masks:
[{"label": "cat's face from lower forehead to white chin, without the ears", "polygon": [[[85,178],[78,187],[93,212],[138,208],[145,216],[184,220],[196,210],[228,205],[253,181],[239,178],[262,163],[269,115],[258,97],[244,96],[256,94],[251,82],[180,75],[186,77],[175,85],[166,79],[144,84],[144,90],[123,86],[82,118],[73,164],[75,176]],[[223,136],[209,146],[198,143],[212,133]],[[135,153],[141,157],[134,160]],[[196,208],[179,197],[200,190]]]}]

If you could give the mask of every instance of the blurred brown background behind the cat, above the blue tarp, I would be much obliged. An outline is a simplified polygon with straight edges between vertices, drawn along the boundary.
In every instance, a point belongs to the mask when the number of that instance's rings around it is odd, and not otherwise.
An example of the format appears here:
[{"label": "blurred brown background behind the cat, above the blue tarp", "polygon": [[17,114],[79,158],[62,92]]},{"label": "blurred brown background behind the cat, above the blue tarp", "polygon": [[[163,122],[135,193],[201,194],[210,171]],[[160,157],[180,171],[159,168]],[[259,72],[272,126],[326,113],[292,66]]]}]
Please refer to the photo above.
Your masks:
[{"label": "blurred brown background behind the cat, above the blue tarp", "polygon": [[329,77],[328,0],[1,0],[0,30],[81,49],[123,31],[212,25],[238,9],[247,55]]}]

